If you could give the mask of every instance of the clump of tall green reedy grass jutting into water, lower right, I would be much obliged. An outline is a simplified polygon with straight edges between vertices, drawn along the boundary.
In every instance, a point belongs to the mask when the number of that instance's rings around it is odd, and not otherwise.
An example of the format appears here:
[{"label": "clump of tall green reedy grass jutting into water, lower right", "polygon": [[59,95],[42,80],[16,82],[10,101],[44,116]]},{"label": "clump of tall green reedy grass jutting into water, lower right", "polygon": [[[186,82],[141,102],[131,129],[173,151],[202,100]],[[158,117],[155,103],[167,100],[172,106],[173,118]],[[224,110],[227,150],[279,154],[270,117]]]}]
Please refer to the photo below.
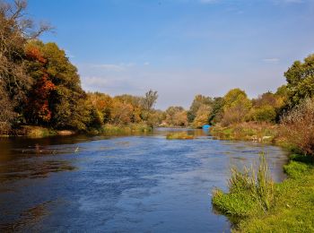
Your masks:
[{"label": "clump of tall green reedy grass jutting into water, lower right", "polygon": [[228,194],[219,189],[213,192],[212,202],[218,211],[245,217],[268,211],[274,202],[275,185],[264,154],[259,157],[258,168],[231,168],[228,186]]}]

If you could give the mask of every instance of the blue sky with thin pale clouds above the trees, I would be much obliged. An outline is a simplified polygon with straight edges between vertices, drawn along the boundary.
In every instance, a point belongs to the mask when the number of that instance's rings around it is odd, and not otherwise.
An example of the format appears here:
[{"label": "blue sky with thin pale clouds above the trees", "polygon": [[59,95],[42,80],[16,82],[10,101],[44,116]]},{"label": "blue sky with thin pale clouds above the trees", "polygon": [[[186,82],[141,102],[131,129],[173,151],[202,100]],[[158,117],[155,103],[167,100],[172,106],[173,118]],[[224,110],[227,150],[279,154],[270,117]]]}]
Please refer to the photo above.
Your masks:
[{"label": "blue sky with thin pale clouds above the trees", "polygon": [[76,65],[85,91],[158,91],[156,108],[196,94],[275,91],[314,53],[314,0],[29,0]]}]

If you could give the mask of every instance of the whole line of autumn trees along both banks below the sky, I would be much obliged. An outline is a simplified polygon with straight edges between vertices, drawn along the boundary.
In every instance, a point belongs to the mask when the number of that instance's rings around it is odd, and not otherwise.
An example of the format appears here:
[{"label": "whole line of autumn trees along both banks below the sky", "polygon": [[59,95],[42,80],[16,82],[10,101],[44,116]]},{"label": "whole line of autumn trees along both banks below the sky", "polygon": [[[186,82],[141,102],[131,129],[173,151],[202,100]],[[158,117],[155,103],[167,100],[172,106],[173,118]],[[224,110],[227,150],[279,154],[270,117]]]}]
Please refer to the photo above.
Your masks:
[{"label": "whole line of autumn trees along both banks below the sky", "polygon": [[76,67],[56,43],[39,36],[50,30],[25,17],[26,2],[0,4],[0,133],[21,125],[88,131],[105,125],[147,126],[232,125],[240,122],[278,123],[291,109],[314,94],[314,55],[296,61],[284,73],[287,83],[256,99],[232,89],[223,97],[196,95],[188,110],[154,109],[157,91],[144,96],[110,97],[85,92]]}]

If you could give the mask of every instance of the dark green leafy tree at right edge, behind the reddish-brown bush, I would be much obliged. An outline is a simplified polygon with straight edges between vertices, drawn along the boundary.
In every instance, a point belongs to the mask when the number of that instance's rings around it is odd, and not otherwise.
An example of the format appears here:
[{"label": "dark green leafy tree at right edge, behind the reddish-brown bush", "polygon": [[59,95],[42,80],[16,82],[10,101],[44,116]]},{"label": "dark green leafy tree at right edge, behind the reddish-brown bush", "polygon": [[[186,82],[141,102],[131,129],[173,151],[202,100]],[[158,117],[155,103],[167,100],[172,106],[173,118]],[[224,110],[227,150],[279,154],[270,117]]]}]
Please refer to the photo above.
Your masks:
[{"label": "dark green leafy tree at right edge, behind the reddish-brown bush", "polygon": [[295,61],[284,73],[287,83],[289,106],[292,108],[302,99],[314,96],[314,55]]}]

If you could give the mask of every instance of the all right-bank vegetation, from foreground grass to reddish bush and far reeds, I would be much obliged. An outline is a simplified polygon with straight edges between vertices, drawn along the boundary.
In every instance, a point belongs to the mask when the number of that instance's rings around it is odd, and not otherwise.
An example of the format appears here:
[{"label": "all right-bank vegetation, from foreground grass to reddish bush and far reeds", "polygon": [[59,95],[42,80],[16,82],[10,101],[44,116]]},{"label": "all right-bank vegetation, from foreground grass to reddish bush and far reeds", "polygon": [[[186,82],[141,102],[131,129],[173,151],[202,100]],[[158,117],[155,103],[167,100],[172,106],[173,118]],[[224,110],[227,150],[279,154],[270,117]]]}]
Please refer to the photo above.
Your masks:
[{"label": "all right-bank vegetation, from foreground grass to reddish bush and far reeds", "polygon": [[214,210],[226,215],[234,232],[314,231],[314,101],[305,99],[279,125],[240,123],[211,129],[223,140],[268,141],[291,151],[287,178],[274,183],[261,155],[258,166],[231,168],[229,191],[212,191]]}]

